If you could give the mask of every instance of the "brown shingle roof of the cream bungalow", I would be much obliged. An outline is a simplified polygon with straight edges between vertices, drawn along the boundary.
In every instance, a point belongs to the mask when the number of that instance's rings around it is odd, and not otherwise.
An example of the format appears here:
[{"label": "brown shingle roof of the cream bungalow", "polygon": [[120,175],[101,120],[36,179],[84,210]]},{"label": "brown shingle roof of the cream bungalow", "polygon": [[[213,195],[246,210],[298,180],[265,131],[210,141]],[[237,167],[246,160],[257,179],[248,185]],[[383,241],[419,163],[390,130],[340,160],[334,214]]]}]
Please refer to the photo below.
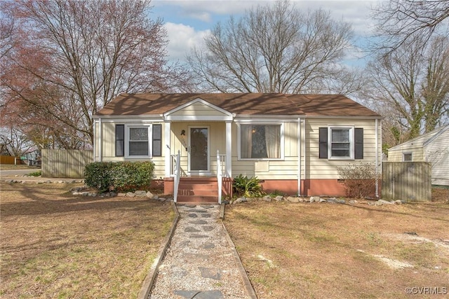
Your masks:
[{"label": "brown shingle roof of the cream bungalow", "polygon": [[265,93],[122,94],[109,102],[96,115],[159,115],[198,98],[231,113],[243,115],[380,117],[378,113],[344,95]]}]

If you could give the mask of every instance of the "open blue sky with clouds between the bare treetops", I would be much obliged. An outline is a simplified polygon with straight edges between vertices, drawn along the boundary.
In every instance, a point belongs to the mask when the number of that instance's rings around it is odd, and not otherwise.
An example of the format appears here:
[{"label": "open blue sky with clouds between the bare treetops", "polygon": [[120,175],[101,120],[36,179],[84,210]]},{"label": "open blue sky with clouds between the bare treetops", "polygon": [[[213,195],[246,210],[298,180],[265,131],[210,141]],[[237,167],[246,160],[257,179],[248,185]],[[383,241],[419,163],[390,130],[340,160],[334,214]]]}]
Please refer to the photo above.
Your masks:
[{"label": "open blue sky with clouds between the bare treetops", "polygon": [[[168,58],[170,61],[185,62],[189,50],[199,45],[204,36],[217,22],[226,22],[231,15],[238,18],[246,10],[259,4],[272,4],[274,0],[234,1],[234,0],[153,0],[151,18],[163,18],[168,33]],[[307,11],[323,8],[330,11],[335,20],[351,23],[356,34],[356,46],[366,42],[366,36],[373,29],[374,22],[369,18],[370,6],[377,1],[366,0],[293,0],[295,6]],[[347,63],[361,66],[364,54],[354,48],[347,57]]]}]

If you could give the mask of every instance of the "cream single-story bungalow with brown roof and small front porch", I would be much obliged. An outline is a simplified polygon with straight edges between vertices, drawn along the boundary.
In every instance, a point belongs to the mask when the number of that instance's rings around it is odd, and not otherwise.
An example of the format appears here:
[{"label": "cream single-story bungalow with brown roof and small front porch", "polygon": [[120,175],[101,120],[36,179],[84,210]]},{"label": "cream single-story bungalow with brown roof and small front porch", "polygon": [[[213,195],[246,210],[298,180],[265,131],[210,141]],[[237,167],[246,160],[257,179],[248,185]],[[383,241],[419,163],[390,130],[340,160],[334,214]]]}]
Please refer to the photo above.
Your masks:
[{"label": "cream single-story bungalow with brown roof and small front porch", "polygon": [[178,202],[221,202],[240,174],[266,192],[344,196],[337,167],[380,172],[381,119],[343,95],[123,94],[93,116],[94,160],[152,160]]}]

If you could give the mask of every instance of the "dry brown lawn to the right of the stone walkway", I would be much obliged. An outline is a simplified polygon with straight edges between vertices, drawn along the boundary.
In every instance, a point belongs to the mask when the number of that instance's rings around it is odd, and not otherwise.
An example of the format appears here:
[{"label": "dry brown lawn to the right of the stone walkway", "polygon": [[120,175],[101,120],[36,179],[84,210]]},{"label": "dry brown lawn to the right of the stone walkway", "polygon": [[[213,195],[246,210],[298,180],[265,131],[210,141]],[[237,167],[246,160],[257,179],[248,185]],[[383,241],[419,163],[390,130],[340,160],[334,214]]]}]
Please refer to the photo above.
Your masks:
[{"label": "dry brown lawn to the right of the stone walkway", "polygon": [[449,190],[440,195],[384,206],[246,202],[227,206],[225,225],[259,298],[408,298],[408,287],[447,293]]}]

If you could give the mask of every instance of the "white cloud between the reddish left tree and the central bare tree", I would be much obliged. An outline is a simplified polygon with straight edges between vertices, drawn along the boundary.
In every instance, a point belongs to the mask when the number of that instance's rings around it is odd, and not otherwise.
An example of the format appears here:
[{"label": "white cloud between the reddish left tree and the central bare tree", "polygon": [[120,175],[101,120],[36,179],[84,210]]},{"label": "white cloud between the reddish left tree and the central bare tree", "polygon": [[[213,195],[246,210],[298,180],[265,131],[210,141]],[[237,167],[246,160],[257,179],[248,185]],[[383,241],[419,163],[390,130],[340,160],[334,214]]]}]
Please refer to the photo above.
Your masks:
[{"label": "white cloud between the reddish left tree and the central bare tree", "polygon": [[167,22],[164,27],[168,34],[168,57],[171,61],[185,61],[186,55],[194,46],[203,43],[210,30],[196,31],[194,27]]}]

